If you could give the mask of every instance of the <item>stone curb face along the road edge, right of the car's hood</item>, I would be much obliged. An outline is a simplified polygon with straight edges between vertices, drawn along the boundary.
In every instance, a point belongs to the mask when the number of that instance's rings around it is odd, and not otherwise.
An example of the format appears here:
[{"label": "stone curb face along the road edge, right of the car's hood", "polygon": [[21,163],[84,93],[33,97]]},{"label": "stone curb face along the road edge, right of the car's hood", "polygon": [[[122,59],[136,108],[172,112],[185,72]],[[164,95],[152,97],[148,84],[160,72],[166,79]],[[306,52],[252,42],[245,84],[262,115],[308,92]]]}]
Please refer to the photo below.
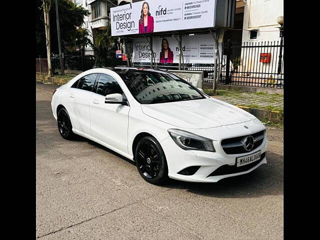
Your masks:
[{"label": "stone curb face along the road edge, right of the car's hood", "polygon": [[274,124],[277,124],[277,123],[283,124],[283,112],[271,111],[271,110],[253,108],[253,107],[241,106],[241,105],[235,105],[235,106],[251,113],[259,120],[262,120],[262,121],[267,120]]}]

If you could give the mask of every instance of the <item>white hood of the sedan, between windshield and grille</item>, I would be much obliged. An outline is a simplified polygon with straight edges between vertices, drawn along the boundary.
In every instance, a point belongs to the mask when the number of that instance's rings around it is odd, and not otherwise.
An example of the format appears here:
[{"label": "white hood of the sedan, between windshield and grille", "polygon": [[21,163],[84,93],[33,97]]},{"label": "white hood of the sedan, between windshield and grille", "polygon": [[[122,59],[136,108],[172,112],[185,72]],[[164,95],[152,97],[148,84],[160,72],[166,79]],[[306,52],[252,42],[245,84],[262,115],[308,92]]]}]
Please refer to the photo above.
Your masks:
[{"label": "white hood of the sedan, between windshield and grille", "polygon": [[210,128],[255,119],[250,113],[212,97],[141,104],[144,114],[181,128]]}]

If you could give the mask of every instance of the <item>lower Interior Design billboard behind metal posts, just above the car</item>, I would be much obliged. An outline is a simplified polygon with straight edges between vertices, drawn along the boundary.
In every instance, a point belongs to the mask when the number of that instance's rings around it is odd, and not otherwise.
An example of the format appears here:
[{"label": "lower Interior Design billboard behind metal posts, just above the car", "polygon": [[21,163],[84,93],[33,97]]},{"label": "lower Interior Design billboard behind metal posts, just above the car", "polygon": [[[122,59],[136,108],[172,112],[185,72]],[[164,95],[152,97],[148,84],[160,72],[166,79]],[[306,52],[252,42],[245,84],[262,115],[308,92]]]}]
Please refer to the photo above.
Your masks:
[{"label": "lower Interior Design billboard behind metal posts, just above the car", "polygon": [[[212,35],[182,36],[182,54],[184,63],[213,63],[215,44]],[[155,62],[178,63],[179,47],[175,37],[152,39]],[[219,52],[221,56],[221,44]],[[151,48],[144,38],[133,39],[133,61],[150,62]]]}]

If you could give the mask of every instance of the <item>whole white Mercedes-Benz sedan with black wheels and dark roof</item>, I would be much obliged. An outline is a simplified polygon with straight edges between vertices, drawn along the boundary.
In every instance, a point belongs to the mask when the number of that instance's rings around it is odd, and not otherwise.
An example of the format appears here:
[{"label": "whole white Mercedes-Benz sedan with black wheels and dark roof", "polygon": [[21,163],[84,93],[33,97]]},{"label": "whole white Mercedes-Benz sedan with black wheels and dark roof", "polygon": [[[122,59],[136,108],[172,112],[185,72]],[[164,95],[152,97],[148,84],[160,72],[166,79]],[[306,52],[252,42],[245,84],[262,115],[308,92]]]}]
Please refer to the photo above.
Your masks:
[{"label": "whole white Mercedes-Benz sedan with black wheels and dark roof", "polygon": [[266,163],[265,126],[180,77],[145,68],[93,68],[53,93],[65,139],[74,134],[133,161],[152,184],[216,182]]}]

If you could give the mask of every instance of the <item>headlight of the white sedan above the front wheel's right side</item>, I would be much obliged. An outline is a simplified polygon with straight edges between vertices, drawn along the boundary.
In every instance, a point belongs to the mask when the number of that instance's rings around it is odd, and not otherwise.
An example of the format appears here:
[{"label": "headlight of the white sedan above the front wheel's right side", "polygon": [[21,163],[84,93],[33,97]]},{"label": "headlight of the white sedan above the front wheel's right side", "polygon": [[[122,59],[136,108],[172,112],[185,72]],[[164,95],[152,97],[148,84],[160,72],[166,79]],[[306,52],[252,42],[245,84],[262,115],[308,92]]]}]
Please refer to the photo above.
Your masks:
[{"label": "headlight of the white sedan above the front wheel's right side", "polygon": [[215,151],[212,140],[188,131],[168,129],[173,141],[184,150]]}]

